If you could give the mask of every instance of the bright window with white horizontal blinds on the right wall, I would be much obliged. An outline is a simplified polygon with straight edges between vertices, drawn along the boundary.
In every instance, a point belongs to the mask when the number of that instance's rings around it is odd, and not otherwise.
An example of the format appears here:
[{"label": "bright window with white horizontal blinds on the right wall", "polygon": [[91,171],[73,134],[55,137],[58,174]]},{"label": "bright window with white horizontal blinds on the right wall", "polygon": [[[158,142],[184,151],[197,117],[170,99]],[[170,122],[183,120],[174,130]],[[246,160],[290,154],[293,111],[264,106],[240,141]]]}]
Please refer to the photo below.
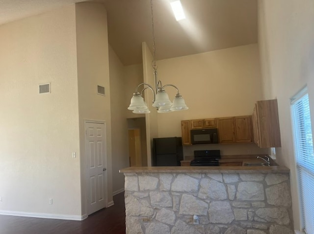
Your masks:
[{"label": "bright window with white horizontal blinds on the right wall", "polygon": [[303,223],[305,232],[314,234],[314,151],[307,89],[291,99],[291,106]]}]

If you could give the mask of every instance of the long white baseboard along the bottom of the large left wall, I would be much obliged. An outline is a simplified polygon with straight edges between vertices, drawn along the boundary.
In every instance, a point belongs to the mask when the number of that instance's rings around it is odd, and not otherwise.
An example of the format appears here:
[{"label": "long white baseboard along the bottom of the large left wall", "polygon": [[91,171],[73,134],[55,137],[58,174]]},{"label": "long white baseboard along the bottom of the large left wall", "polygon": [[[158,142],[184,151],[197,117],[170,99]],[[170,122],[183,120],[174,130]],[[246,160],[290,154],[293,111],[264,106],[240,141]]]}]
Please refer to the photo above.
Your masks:
[{"label": "long white baseboard along the bottom of the large left wall", "polygon": [[64,220],[83,220],[87,218],[87,215],[69,215],[69,214],[52,214],[52,213],[33,213],[33,212],[21,212],[21,211],[1,211],[0,214],[22,216],[22,217],[33,217],[33,218],[53,218],[53,219],[64,219]]}]

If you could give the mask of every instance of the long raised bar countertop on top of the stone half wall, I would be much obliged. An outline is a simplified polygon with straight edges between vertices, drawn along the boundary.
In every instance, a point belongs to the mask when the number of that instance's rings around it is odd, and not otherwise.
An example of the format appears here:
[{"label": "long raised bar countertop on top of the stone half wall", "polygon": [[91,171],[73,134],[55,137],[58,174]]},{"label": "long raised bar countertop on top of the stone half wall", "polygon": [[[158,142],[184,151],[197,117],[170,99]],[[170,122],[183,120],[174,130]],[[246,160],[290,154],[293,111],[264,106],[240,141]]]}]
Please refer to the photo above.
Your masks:
[{"label": "long raised bar countertop on top of the stone half wall", "polygon": [[288,173],[286,166],[134,166],[121,173]]}]

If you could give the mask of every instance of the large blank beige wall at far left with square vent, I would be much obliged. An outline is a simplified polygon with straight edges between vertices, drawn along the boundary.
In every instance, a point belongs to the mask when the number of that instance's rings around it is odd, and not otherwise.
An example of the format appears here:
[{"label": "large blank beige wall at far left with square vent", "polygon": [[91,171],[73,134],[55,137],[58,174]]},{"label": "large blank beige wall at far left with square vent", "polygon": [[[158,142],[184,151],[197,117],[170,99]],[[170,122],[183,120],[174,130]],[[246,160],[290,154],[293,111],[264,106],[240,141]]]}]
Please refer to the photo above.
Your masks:
[{"label": "large blank beige wall at far left with square vent", "polygon": [[0,42],[0,211],[79,218],[75,7],[0,25]]}]

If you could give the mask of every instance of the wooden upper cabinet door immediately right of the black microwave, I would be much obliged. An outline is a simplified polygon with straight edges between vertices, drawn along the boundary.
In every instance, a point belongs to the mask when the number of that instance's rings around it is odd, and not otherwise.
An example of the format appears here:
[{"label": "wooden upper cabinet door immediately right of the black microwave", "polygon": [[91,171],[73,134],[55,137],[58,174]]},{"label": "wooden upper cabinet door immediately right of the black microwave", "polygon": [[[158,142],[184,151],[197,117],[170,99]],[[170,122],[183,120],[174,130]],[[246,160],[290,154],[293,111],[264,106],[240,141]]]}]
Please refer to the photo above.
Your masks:
[{"label": "wooden upper cabinet door immediately right of the black microwave", "polygon": [[235,142],[235,126],[233,117],[217,118],[219,143]]}]

